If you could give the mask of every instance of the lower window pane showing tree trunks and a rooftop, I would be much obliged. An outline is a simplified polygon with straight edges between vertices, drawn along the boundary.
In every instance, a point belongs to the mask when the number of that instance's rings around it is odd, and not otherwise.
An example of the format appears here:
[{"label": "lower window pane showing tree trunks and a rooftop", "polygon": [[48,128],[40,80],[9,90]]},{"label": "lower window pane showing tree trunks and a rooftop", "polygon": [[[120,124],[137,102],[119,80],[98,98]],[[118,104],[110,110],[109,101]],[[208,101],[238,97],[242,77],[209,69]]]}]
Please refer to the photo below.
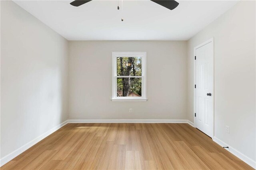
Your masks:
[{"label": "lower window pane showing tree trunks and a rooftop", "polygon": [[117,78],[117,97],[141,97],[141,78]]}]

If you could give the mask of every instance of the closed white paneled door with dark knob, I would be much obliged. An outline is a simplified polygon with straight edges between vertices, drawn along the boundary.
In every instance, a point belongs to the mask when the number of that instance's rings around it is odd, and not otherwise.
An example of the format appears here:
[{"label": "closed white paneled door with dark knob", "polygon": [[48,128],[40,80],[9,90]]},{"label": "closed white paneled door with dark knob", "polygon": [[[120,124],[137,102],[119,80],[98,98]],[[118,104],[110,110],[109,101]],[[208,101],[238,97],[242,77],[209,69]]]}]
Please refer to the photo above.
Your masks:
[{"label": "closed white paneled door with dark knob", "polygon": [[213,137],[214,123],[214,75],[213,41],[195,48],[196,86],[195,86],[195,122],[196,128]]}]

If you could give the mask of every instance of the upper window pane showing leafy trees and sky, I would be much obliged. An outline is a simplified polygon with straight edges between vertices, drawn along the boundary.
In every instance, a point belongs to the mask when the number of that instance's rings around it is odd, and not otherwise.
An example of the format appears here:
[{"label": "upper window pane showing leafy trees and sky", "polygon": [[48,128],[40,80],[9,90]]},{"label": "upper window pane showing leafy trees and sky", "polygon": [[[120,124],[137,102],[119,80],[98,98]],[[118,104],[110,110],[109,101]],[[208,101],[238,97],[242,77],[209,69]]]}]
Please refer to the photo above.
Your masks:
[{"label": "upper window pane showing leafy trees and sky", "polygon": [[141,76],[141,57],[117,57],[117,75]]}]

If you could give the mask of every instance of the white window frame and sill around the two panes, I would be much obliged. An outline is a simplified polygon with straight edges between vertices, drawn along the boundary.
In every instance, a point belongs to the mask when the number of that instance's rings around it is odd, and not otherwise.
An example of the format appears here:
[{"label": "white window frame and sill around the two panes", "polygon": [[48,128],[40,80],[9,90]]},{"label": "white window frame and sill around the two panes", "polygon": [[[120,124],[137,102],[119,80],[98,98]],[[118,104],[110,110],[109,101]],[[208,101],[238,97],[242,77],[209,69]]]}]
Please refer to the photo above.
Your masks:
[{"label": "white window frame and sill around the two panes", "polygon": [[[117,76],[116,59],[117,57],[141,57],[142,61],[142,75],[141,76],[127,76],[127,77],[141,77],[141,97],[118,97],[117,93]],[[112,52],[112,101],[147,101],[146,95],[146,52]],[[123,77],[123,76],[122,76]]]}]

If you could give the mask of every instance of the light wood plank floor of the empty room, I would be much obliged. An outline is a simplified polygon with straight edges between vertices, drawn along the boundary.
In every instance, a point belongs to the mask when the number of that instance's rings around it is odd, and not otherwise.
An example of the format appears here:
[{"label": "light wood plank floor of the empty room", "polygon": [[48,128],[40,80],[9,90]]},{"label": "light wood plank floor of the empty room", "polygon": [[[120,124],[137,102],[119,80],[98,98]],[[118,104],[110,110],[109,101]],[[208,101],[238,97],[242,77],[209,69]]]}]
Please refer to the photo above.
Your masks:
[{"label": "light wood plank floor of the empty room", "polygon": [[252,169],[188,124],[67,124],[1,170]]}]

